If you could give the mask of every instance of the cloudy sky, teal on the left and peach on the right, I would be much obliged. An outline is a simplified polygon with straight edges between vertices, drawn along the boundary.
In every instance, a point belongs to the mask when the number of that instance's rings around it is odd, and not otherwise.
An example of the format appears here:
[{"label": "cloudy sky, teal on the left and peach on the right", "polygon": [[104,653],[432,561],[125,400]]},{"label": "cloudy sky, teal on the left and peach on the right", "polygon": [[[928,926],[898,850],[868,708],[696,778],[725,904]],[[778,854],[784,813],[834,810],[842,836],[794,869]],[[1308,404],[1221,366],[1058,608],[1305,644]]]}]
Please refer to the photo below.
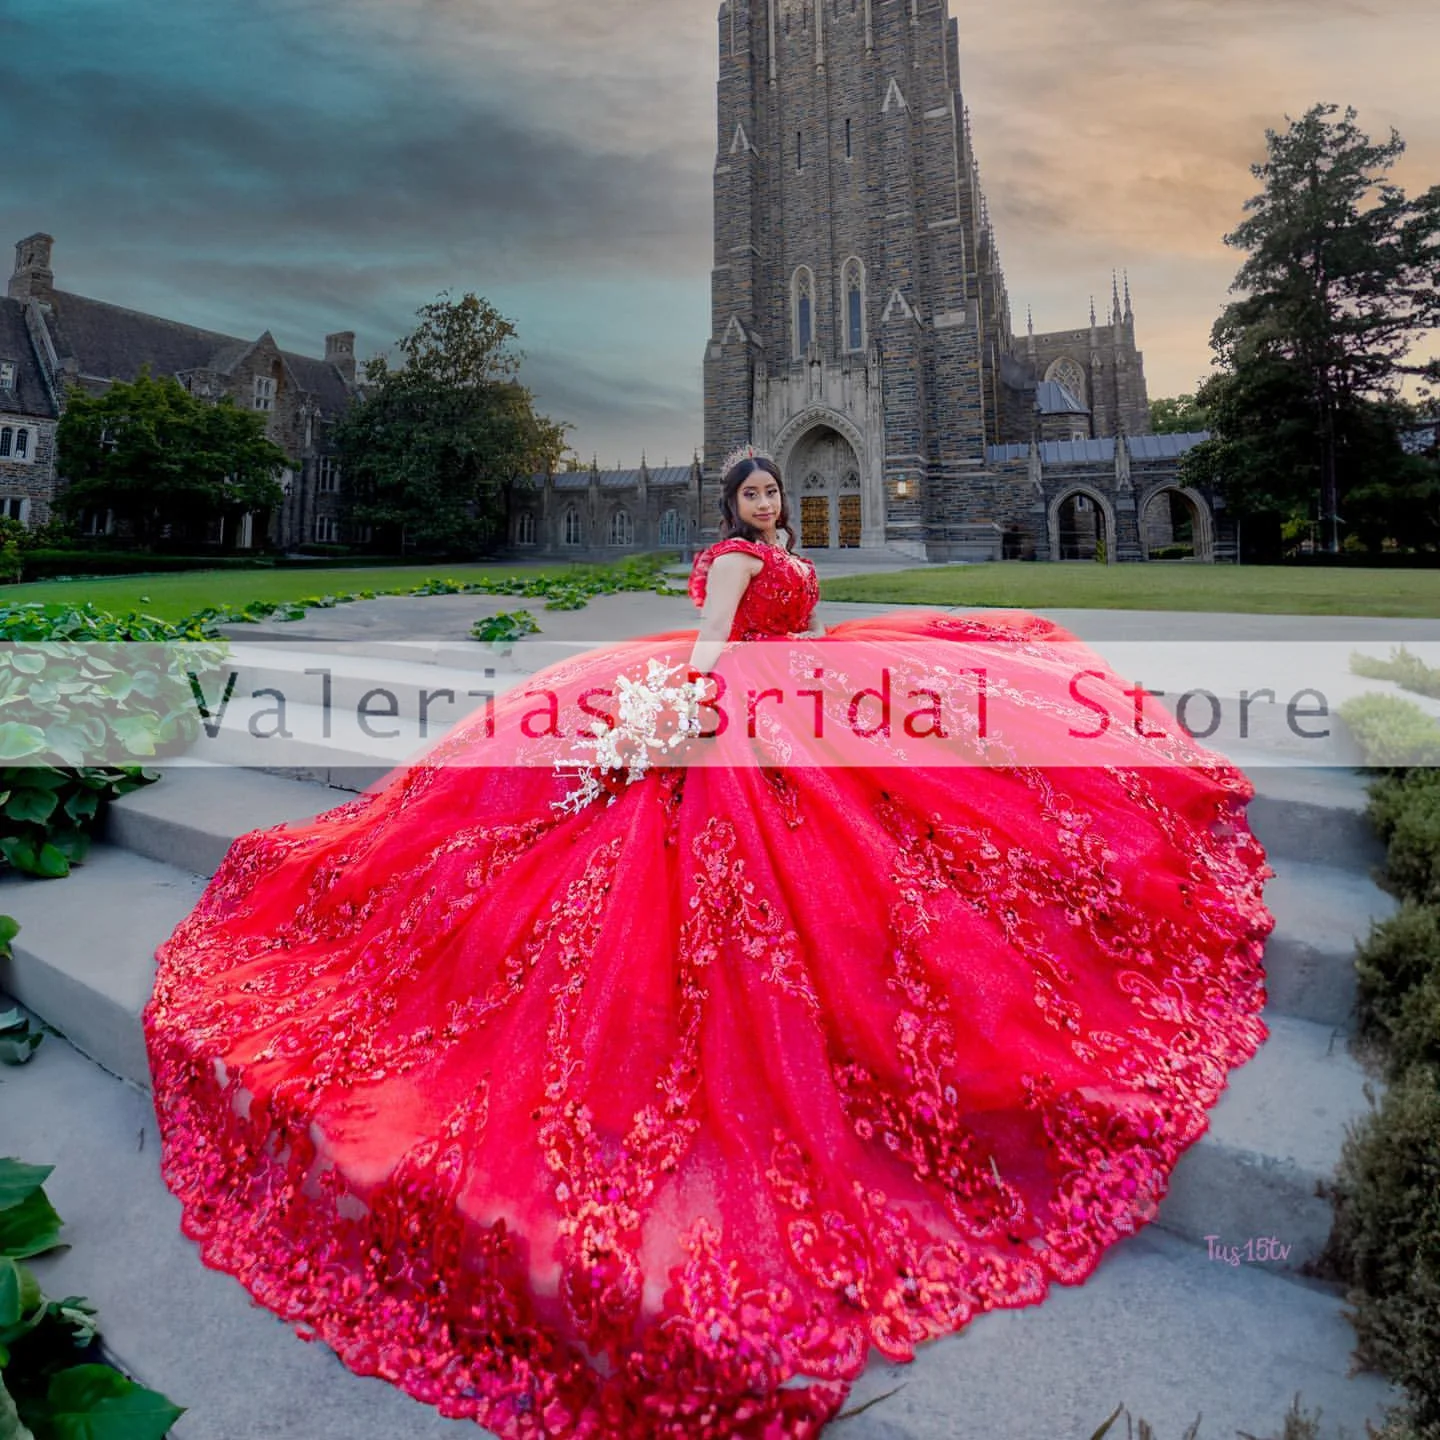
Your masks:
[{"label": "cloudy sky, teal on the left and peach on the right", "polygon": [[[1017,324],[1128,268],[1152,395],[1192,389],[1264,130],[1315,101],[1440,181],[1434,0],[950,0]],[[602,465],[690,458],[717,0],[0,0],[0,259],[318,354],[444,289]],[[4,272],[9,265],[4,266]]]}]

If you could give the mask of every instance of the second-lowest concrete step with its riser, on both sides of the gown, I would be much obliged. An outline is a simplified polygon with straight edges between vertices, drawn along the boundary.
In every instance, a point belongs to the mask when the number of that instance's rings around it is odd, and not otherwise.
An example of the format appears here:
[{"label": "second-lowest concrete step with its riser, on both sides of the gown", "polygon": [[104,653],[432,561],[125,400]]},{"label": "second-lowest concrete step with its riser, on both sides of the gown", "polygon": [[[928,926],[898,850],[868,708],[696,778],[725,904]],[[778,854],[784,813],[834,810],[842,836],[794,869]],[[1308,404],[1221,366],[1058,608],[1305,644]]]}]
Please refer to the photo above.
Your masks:
[{"label": "second-lowest concrete step with its riser, on both sides of the gown", "polygon": [[[63,884],[60,896],[52,886]],[[9,991],[107,1070],[148,1083],[140,1015],[154,950],[199,899],[179,865],[98,845],[63,883],[0,883],[0,913],[20,922]],[[63,904],[58,904],[63,900]],[[1364,1073],[1333,1027],[1266,1012],[1272,1035],[1231,1079],[1211,1126],[1175,1169],[1161,1224],[1198,1244],[1274,1234],[1283,1264],[1315,1259],[1329,1231],[1316,1188],[1345,1123],[1364,1115]]]}]

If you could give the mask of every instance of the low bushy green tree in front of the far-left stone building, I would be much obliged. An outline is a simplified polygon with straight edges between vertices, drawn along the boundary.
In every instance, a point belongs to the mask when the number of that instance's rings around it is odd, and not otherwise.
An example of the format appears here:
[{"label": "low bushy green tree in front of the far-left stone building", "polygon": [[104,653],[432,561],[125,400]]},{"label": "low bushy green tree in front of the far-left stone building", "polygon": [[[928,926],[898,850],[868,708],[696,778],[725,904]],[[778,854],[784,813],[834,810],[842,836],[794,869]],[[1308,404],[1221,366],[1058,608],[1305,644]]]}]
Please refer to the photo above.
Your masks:
[{"label": "low bushy green tree in front of the far-left stone building", "polygon": [[56,508],[69,517],[112,510],[141,544],[163,526],[194,534],[217,517],[264,514],[282,498],[285,452],[265,418],[226,396],[199,400],[148,369],[104,395],[71,389],[56,432],[68,484]]}]

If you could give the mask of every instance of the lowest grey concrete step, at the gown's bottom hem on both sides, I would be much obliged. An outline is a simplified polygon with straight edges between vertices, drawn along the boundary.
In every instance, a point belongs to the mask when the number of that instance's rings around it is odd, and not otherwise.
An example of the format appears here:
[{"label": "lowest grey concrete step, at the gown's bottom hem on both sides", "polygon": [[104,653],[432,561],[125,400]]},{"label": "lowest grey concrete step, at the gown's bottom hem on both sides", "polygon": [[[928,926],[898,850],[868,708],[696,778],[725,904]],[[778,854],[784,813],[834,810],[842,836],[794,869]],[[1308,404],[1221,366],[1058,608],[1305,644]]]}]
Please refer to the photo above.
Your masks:
[{"label": "lowest grey concrete step, at the gown's bottom hem on both sides", "polygon": [[[36,1261],[40,1280],[55,1295],[89,1296],[115,1358],[189,1407],[174,1440],[487,1434],[350,1374],[253,1306],[238,1280],[204,1269],[157,1174],[148,1096],[53,1038],[6,1077],[6,1096],[0,1152],[56,1166],[46,1189],[71,1241]],[[897,1392],[837,1423],[834,1436],[1083,1440],[1122,1401],[1161,1437],[1201,1413],[1207,1440],[1269,1436],[1296,1392],[1323,1411],[1326,1440],[1338,1424],[1358,1436],[1398,1397],[1375,1375],[1348,1374],[1352,1344],[1331,1290],[1266,1264],[1210,1260],[1151,1225],[1113,1246],[1080,1286],[979,1315],[910,1365],[873,1361],[850,1407]]]}]

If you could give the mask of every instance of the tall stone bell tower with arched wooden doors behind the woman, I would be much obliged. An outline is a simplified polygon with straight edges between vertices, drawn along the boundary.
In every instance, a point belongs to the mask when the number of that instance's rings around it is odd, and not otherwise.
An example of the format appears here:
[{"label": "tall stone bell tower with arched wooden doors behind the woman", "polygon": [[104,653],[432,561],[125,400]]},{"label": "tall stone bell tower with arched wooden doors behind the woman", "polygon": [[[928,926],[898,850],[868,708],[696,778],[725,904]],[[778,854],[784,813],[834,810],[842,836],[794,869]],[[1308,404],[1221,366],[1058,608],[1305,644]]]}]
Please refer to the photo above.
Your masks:
[{"label": "tall stone bell tower with arched wooden doors behind the woman", "polygon": [[804,549],[945,554],[1011,346],[948,0],[726,0],[719,40],[701,524],[753,439]]}]

